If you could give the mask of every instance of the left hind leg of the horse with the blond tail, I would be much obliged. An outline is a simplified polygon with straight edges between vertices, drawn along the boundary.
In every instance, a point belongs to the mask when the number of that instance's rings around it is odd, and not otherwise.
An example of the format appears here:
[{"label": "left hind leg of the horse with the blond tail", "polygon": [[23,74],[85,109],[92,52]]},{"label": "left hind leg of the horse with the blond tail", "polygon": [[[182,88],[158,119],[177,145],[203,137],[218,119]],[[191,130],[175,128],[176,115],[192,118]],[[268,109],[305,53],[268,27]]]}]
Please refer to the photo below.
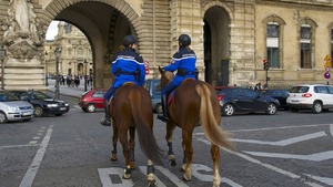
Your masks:
[{"label": "left hind leg of the horse with the blond tail", "polygon": [[184,150],[184,160],[182,169],[184,170],[184,179],[186,181],[192,179],[192,160],[193,160],[193,147],[192,147],[192,132],[193,129],[184,129],[182,131],[183,136],[183,150]]}]

